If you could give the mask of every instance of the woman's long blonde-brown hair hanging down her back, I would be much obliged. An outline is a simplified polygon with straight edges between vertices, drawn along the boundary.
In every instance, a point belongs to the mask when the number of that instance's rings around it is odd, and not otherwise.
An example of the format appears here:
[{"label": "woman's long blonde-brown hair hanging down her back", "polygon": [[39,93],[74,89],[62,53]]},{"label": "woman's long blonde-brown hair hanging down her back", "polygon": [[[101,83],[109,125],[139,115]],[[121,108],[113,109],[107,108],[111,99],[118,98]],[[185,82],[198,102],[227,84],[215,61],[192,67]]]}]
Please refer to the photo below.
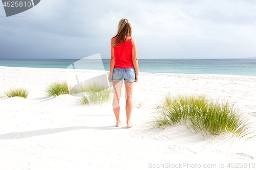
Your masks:
[{"label": "woman's long blonde-brown hair hanging down her back", "polygon": [[[128,19],[122,18],[118,23],[117,34],[114,37],[112,37],[112,38],[116,37],[116,42],[113,44],[111,49],[114,48],[116,45],[118,45],[124,39],[125,34],[126,36],[132,37],[132,25]],[[123,40],[123,43],[125,42],[125,40],[126,40],[126,37]]]}]

